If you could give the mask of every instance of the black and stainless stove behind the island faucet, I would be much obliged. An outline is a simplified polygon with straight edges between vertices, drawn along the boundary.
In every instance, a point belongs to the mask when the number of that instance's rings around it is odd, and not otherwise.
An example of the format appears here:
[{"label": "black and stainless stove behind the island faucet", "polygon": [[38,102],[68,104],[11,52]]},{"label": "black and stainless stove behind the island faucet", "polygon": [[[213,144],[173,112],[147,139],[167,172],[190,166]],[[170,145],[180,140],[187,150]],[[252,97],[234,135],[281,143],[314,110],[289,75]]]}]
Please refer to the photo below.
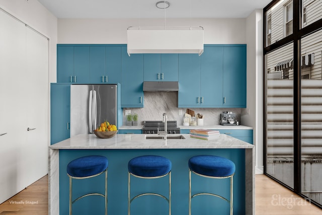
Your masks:
[{"label": "black and stainless stove behind the island faucet", "polygon": [[[180,128],[177,127],[177,121],[167,121],[168,133],[180,133]],[[157,130],[164,131],[165,123],[162,121],[144,121],[142,128],[143,133],[157,133]]]}]

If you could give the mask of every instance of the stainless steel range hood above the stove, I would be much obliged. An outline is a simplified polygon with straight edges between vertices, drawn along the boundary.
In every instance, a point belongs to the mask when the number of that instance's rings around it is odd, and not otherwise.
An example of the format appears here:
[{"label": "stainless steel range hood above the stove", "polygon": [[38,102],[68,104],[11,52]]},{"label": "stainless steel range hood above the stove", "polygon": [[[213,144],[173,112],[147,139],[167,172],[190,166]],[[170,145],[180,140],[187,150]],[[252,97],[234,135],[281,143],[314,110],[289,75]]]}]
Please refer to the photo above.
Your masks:
[{"label": "stainless steel range hood above the stove", "polygon": [[145,92],[178,92],[178,82],[143,82]]}]

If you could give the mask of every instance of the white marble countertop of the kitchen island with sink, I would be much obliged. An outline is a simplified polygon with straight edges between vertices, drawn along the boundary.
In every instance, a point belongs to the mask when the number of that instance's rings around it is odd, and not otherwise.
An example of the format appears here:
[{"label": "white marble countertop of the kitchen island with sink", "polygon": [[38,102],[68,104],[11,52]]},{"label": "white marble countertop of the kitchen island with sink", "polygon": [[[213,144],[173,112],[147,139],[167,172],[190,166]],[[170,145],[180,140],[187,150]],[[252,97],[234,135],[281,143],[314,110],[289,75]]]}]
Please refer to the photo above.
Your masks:
[{"label": "white marble countertop of the kitchen island with sink", "polygon": [[252,149],[254,145],[226,134],[220,134],[213,140],[185,139],[146,139],[157,134],[116,134],[112,138],[99,138],[95,134],[79,134],[49,146],[50,149]]}]

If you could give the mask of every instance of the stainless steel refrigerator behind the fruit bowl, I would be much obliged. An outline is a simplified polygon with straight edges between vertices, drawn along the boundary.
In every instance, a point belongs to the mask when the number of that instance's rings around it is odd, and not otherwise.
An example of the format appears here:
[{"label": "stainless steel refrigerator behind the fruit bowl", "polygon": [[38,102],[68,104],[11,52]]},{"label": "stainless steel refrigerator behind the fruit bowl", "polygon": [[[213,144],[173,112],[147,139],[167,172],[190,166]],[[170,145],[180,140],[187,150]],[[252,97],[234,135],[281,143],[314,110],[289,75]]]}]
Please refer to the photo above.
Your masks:
[{"label": "stainless steel refrigerator behind the fruit bowl", "polygon": [[70,86],[70,136],[93,133],[105,120],[117,125],[117,87],[118,85]]}]

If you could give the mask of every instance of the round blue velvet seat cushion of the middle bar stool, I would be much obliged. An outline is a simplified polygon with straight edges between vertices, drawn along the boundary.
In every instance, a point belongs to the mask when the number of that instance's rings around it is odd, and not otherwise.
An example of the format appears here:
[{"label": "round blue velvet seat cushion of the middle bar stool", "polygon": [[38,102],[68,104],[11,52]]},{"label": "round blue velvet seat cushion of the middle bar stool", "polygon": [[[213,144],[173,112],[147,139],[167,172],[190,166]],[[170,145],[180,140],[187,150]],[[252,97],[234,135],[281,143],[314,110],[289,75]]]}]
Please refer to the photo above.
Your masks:
[{"label": "round blue velvet seat cushion of the middle bar stool", "polygon": [[171,171],[172,163],[162,156],[146,155],[133,158],[128,163],[130,173],[141,177],[166,175]]}]

